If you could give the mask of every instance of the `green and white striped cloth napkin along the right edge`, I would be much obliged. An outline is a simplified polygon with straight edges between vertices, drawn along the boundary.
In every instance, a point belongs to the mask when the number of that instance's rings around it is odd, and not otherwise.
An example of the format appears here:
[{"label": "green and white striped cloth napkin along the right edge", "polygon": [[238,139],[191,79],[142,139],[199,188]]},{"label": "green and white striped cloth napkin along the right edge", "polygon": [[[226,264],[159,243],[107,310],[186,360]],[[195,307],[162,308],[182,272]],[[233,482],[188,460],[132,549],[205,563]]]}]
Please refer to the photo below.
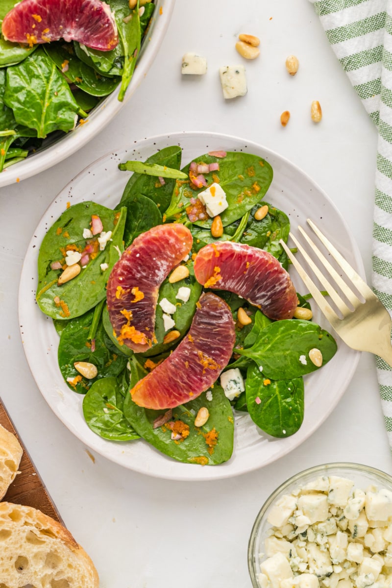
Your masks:
[{"label": "green and white striped cloth napkin along the right edge", "polygon": [[[310,0],[327,38],[378,129],[373,290],[392,312],[392,0]],[[392,447],[392,368],[376,358]]]}]

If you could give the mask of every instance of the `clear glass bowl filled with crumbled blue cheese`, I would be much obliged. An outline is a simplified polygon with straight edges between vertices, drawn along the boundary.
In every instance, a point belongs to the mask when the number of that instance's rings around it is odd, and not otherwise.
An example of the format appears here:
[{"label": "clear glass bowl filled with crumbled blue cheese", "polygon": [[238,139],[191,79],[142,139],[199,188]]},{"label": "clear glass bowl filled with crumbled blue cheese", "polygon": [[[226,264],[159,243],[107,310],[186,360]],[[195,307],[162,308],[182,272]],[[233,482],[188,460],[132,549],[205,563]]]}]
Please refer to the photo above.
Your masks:
[{"label": "clear glass bowl filled with crumbled blue cheese", "polygon": [[253,588],[392,588],[392,477],[311,467],[266,500],[248,547]]}]

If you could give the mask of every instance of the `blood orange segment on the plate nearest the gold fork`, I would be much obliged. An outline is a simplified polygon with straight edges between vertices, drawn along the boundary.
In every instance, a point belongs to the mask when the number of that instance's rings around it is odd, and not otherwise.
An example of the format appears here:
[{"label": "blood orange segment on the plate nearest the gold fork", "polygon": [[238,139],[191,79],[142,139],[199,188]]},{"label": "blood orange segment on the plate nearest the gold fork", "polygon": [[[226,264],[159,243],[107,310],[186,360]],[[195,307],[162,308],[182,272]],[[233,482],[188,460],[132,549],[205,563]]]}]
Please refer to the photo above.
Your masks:
[{"label": "blood orange segment on the plate nearest the gold fork", "polygon": [[205,288],[242,296],[270,319],[291,319],[297,307],[289,273],[263,249],[230,241],[206,245],[197,253],[195,276]]}]

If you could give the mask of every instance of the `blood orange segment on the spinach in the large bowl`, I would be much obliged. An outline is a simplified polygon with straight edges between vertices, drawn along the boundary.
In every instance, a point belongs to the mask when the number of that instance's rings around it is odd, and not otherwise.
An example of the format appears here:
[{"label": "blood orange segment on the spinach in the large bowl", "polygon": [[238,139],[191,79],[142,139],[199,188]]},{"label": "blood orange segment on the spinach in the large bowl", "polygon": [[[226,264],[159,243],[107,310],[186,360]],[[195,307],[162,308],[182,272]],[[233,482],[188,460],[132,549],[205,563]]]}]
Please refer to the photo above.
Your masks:
[{"label": "blood orange segment on the spinach in the large bowl", "polygon": [[50,41],[79,41],[109,51],[118,44],[110,6],[100,0],[22,0],[2,22],[6,41],[30,46]]}]

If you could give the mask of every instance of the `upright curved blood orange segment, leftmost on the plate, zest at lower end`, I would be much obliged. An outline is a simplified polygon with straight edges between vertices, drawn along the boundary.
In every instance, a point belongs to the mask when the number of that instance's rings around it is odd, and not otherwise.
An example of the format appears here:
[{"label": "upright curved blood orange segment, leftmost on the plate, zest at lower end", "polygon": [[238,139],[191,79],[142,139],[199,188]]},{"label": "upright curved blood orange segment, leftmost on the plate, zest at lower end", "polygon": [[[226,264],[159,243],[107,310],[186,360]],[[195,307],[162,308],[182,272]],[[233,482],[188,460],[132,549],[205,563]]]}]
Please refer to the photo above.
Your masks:
[{"label": "upright curved blood orange segment, leftmost on the plate, zest at lower end", "polygon": [[142,233],[123,252],[106,292],[110,322],[120,344],[142,353],[155,342],[159,287],[191,247],[190,230],[171,223]]}]

